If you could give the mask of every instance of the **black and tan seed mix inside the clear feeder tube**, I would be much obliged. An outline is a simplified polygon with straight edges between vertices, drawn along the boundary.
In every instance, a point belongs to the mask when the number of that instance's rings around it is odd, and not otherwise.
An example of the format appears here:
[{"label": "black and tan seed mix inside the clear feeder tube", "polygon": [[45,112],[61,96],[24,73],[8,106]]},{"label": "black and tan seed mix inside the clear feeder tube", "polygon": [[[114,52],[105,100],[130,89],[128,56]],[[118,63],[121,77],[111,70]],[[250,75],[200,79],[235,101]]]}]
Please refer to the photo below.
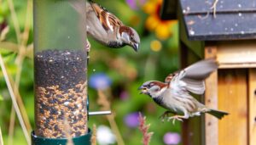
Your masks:
[{"label": "black and tan seed mix inside the clear feeder tube", "polygon": [[87,133],[86,52],[35,54],[36,135],[79,137]]}]

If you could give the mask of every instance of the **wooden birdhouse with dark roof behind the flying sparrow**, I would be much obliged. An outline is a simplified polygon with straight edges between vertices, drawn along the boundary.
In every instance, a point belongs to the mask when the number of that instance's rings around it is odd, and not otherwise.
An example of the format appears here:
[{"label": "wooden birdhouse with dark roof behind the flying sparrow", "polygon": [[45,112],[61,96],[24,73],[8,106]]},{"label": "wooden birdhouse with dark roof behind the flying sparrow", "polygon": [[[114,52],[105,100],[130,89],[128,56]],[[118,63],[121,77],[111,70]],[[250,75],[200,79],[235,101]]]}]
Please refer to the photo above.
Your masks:
[{"label": "wooden birdhouse with dark roof behind the flying sparrow", "polygon": [[[162,17],[175,15],[172,6],[164,2]],[[186,120],[183,144],[256,145],[256,0],[178,0],[173,8],[182,67],[212,57],[219,63],[198,99],[230,113]]]}]

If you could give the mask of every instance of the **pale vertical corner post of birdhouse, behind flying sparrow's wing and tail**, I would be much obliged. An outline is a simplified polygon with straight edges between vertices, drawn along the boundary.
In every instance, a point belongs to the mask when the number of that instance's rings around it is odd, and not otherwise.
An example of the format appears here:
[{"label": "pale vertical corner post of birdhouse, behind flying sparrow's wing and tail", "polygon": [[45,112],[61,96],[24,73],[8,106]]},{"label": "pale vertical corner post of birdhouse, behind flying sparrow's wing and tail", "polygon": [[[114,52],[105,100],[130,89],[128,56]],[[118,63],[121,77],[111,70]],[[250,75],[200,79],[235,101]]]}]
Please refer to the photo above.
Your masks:
[{"label": "pale vertical corner post of birdhouse, behind flying sparrow's wing and tail", "polygon": [[[205,48],[205,59],[213,58],[217,54],[216,46],[207,46]],[[218,108],[218,74],[213,72],[206,80],[205,104],[211,109]],[[205,115],[205,144],[218,144],[218,119],[212,115]]]}]

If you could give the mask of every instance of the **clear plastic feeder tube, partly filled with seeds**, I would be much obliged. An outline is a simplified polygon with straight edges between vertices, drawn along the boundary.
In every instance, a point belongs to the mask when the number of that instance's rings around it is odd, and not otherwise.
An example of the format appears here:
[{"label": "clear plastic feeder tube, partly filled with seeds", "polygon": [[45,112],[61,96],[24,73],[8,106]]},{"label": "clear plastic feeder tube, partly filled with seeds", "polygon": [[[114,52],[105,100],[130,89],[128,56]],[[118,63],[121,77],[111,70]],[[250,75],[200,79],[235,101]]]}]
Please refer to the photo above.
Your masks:
[{"label": "clear plastic feeder tube, partly filled with seeds", "polygon": [[38,137],[80,137],[88,131],[85,3],[33,0]]}]

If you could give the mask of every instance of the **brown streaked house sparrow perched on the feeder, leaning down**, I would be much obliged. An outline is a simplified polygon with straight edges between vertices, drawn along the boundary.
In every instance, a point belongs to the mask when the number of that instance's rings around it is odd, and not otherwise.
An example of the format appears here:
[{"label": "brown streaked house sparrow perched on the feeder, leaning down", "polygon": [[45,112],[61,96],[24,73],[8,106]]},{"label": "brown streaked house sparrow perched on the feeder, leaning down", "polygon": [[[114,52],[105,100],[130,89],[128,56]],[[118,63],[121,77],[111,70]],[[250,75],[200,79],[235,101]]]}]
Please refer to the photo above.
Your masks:
[{"label": "brown streaked house sparrow perched on the feeder, leaning down", "polygon": [[[73,8],[84,13],[79,3],[69,0]],[[139,49],[140,37],[133,28],[124,25],[106,8],[92,1],[86,2],[87,34],[107,47],[120,48],[131,46],[136,52]]]}]

